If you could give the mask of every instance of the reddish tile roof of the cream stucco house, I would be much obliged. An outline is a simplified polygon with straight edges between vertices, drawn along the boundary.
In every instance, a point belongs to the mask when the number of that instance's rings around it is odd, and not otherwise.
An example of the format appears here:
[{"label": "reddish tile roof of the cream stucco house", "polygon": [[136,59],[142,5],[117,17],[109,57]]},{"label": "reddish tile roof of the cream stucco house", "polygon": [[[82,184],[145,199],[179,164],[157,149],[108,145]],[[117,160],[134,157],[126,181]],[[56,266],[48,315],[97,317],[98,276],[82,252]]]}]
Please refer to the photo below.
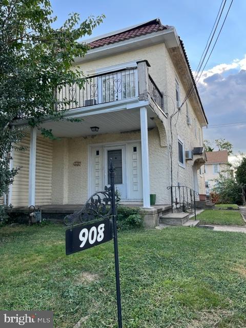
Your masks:
[{"label": "reddish tile roof of the cream stucco house", "polygon": [[[160,22],[160,19],[156,18],[156,19],[150,20],[149,22],[139,24],[139,25],[135,25],[133,27],[129,27],[129,28],[126,28],[126,29],[121,30],[121,31],[115,31],[115,32],[112,32],[110,34],[107,34],[107,35],[104,35],[104,36],[101,36],[101,37],[99,36],[98,39],[93,39],[91,42],[90,42],[90,40],[88,40],[88,44],[90,45],[91,49],[94,49],[94,48],[99,48],[99,47],[107,46],[107,45],[110,45],[110,44],[118,43],[118,42],[121,42],[121,41],[125,41],[125,40],[128,40],[128,39],[137,37],[137,36],[142,36],[142,35],[150,34],[150,33],[153,33],[153,32],[158,32],[158,31],[162,31],[162,30],[168,30],[170,28],[173,28],[173,27],[169,26],[169,25],[162,25],[161,22]],[[199,93],[198,93],[198,90],[197,90],[197,87],[196,87],[196,84],[195,84],[195,80],[194,80],[194,77],[193,77],[193,74],[192,74],[192,70],[191,70],[190,63],[189,63],[189,60],[188,60],[188,57],[187,57],[187,53],[186,53],[185,47],[183,46],[183,42],[180,39],[180,37],[179,37],[179,42],[180,42],[183,54],[186,58],[186,62],[187,62],[187,65],[188,65],[188,68],[189,68],[189,71],[190,71],[190,75],[191,75],[191,78],[192,78],[192,81],[193,81],[193,84],[194,84],[194,89],[195,89],[195,92],[198,96],[199,103],[200,103],[203,115],[204,115],[204,117],[206,119],[206,122],[208,124],[208,119],[206,117],[205,111],[204,111],[202,103],[201,103],[201,99],[200,99],[200,96],[199,96]]]}]

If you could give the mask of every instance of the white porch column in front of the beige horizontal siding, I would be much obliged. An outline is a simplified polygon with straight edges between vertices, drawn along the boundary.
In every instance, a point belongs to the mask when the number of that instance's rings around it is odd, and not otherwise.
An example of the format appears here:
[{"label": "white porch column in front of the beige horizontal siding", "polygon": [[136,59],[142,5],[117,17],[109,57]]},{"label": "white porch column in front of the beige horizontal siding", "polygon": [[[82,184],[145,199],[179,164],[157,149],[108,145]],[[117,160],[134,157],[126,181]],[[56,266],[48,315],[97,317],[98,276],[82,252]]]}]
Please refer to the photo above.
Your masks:
[{"label": "white porch column in front of the beige horizontal siding", "polygon": [[29,201],[28,206],[35,206],[35,181],[36,181],[36,139],[37,128],[30,132],[30,158],[29,158]]}]

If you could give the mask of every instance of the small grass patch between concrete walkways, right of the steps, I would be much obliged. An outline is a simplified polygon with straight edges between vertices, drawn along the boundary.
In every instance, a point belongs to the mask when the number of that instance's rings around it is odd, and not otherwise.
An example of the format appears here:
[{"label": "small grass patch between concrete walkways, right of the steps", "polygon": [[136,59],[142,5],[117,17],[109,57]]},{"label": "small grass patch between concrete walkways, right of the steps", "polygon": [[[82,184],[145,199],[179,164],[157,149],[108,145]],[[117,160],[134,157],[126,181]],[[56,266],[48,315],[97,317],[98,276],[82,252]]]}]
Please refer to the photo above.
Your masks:
[{"label": "small grass patch between concrete walkways, right of the steps", "polygon": [[201,224],[217,224],[219,226],[244,226],[240,212],[229,210],[204,210],[197,215]]}]

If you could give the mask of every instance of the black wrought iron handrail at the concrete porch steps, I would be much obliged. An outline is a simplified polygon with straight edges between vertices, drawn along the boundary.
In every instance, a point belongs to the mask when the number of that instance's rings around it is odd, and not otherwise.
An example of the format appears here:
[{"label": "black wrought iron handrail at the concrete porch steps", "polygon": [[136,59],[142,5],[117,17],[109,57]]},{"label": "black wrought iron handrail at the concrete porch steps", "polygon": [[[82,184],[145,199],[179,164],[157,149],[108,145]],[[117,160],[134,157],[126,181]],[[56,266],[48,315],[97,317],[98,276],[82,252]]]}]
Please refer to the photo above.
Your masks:
[{"label": "black wrought iron handrail at the concrete porch steps", "polygon": [[199,193],[186,186],[169,186],[167,189],[171,191],[172,213],[174,209],[191,212],[196,220],[196,196],[199,196]]}]

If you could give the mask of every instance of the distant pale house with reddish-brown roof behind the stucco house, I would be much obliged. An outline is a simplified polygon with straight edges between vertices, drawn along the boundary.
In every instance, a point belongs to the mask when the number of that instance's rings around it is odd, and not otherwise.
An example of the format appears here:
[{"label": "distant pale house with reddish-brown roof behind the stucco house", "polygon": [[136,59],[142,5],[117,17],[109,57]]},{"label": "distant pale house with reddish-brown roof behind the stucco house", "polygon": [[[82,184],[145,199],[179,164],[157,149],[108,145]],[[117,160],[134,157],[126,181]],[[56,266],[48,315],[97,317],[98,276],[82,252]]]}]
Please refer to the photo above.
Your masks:
[{"label": "distant pale house with reddish-brown roof behind the stucco house", "polygon": [[220,150],[217,152],[206,152],[207,162],[203,166],[204,170],[204,178],[206,185],[206,194],[209,195],[213,190],[216,181],[219,177],[219,174],[223,174],[224,176],[230,176],[231,172],[229,162],[228,162],[228,151]]}]

